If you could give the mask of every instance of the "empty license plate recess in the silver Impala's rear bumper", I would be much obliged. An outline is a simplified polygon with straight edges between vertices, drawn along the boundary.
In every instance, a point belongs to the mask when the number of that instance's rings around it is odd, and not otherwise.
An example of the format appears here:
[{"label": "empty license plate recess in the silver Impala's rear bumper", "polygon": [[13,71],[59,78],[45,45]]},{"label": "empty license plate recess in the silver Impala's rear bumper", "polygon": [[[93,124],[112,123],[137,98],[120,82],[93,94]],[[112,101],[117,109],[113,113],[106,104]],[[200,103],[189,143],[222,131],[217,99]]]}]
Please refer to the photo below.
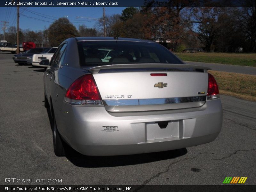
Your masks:
[{"label": "empty license plate recess in the silver Impala's rear bumper", "polygon": [[[165,123],[168,124],[163,128],[163,124]],[[146,123],[146,135],[147,140],[179,137],[179,120],[164,122],[162,124],[161,122]]]}]

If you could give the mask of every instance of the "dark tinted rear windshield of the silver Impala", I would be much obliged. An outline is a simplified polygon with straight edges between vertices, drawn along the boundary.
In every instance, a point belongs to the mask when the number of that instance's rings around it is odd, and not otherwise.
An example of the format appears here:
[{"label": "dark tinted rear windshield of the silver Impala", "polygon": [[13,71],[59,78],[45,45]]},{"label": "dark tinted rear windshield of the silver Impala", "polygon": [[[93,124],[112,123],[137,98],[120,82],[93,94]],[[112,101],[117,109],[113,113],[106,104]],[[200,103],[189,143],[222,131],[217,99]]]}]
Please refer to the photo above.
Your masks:
[{"label": "dark tinted rear windshield of the silver Impala", "polygon": [[128,63],[183,64],[162,45],[134,41],[78,41],[81,66]]}]

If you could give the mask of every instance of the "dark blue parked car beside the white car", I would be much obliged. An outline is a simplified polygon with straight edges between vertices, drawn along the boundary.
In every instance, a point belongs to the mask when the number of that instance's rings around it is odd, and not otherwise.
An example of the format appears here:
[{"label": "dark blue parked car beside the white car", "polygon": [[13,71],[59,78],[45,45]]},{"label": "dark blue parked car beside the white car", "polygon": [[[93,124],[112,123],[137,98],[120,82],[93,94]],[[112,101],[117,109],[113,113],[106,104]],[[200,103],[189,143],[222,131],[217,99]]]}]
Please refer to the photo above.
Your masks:
[{"label": "dark blue parked car beside the white car", "polygon": [[12,59],[14,60],[15,63],[18,63],[19,65],[22,64],[32,64],[32,56],[37,53],[43,53],[49,51],[50,48],[33,48],[29,49],[28,51],[14,55]]}]

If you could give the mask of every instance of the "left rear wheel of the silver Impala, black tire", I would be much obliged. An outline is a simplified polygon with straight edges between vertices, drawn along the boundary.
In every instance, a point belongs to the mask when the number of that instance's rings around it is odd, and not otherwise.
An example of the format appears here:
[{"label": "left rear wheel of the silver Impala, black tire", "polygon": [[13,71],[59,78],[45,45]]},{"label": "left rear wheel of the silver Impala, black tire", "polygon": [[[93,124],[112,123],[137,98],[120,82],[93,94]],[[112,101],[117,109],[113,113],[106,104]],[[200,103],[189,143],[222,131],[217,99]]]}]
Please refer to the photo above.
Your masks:
[{"label": "left rear wheel of the silver Impala, black tire", "polygon": [[53,119],[52,137],[53,137],[53,148],[54,148],[55,155],[65,156],[65,148],[64,148],[65,143],[60,137],[60,133],[57,129],[55,118]]}]

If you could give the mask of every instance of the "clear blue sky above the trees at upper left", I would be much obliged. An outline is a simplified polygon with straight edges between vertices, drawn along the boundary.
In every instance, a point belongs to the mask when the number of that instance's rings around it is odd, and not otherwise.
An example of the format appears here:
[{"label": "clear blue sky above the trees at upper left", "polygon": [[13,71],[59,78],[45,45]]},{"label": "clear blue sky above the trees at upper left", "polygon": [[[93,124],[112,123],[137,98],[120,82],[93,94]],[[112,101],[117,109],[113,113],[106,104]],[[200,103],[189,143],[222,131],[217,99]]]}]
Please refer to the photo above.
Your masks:
[{"label": "clear blue sky above the trees at upper left", "polygon": [[[105,14],[121,14],[125,7],[105,7]],[[90,28],[97,28],[97,20],[76,18],[89,17],[99,19],[103,15],[102,7],[20,7],[20,28],[33,31],[48,28],[54,20],[67,17],[76,27],[84,24]],[[17,26],[17,8],[0,7],[0,21],[7,21],[8,27]],[[0,33],[3,34],[1,22]],[[8,29],[6,30],[8,31]]]}]

